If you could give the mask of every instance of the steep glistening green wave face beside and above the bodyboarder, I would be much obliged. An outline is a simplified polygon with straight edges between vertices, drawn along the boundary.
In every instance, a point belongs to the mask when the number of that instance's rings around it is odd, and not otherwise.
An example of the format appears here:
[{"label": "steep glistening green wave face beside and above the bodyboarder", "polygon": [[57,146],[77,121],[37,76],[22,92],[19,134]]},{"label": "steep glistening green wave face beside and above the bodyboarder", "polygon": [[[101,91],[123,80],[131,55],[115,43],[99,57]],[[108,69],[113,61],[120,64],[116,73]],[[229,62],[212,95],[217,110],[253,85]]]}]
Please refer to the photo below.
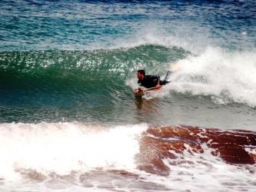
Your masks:
[{"label": "steep glistening green wave face beside and above the bodyboarder", "polygon": [[168,63],[184,58],[179,48],[141,45],[95,51],[4,51],[1,57],[3,88],[56,91],[120,88],[138,68],[164,71]]}]

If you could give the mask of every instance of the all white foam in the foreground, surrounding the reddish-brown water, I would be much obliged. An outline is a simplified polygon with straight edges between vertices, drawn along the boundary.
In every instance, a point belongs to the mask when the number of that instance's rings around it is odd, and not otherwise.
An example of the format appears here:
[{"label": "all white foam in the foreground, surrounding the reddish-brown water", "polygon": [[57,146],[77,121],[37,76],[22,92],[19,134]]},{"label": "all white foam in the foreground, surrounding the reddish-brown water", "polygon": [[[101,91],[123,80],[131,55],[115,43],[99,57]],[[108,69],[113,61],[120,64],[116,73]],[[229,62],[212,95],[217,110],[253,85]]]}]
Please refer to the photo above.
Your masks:
[{"label": "all white foam in the foreground, surrounding the reddish-brown water", "polygon": [[[0,177],[1,191],[109,191],[108,187],[97,187],[104,182],[102,177],[90,177],[95,180],[94,187],[86,187],[79,178],[75,181],[68,177],[54,177],[40,180],[23,180],[22,170],[35,170],[39,174],[77,175],[89,170],[125,170],[138,174],[135,185],[118,185],[122,180],[126,183],[132,178],[109,178],[106,186],[114,186],[117,190],[144,189],[143,184],[164,186],[175,191],[254,191],[254,165],[238,167],[224,163],[220,157],[211,154],[214,151],[201,144],[203,154],[194,153],[185,145],[184,154],[177,154],[177,159],[165,159],[171,173],[168,177],[148,174],[138,170],[135,155],[139,153],[139,137],[148,128],[147,124],[135,124],[108,127],[101,124],[81,123],[40,123],[40,124],[0,124]],[[254,154],[254,148],[247,146]],[[170,164],[171,163],[171,164]],[[173,164],[173,163],[176,163]],[[252,170],[250,172],[249,170]],[[104,172],[102,172],[104,174]],[[108,175],[108,174],[107,174]],[[15,181],[15,182],[13,182]],[[138,182],[138,183],[136,183]],[[147,182],[147,183],[143,183]],[[91,183],[93,183],[91,181]],[[124,185],[126,186],[126,185]],[[19,189],[19,190],[17,190]],[[150,189],[150,188],[149,188]],[[218,190],[217,190],[218,189]],[[111,189],[110,189],[111,190]],[[142,190],[143,191],[143,190]]]}]

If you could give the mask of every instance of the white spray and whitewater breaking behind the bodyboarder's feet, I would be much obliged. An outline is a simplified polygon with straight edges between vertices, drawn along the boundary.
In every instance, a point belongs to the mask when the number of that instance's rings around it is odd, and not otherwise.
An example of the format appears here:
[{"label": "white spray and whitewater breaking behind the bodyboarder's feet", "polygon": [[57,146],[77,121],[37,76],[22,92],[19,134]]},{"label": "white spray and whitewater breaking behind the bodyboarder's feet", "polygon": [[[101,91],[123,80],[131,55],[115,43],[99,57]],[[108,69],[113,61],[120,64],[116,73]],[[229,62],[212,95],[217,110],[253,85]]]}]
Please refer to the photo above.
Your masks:
[{"label": "white spray and whitewater breaking behind the bodyboarder's feet", "polygon": [[218,103],[235,101],[255,106],[255,51],[228,52],[208,48],[203,54],[178,61],[171,87],[182,93],[213,95]]}]

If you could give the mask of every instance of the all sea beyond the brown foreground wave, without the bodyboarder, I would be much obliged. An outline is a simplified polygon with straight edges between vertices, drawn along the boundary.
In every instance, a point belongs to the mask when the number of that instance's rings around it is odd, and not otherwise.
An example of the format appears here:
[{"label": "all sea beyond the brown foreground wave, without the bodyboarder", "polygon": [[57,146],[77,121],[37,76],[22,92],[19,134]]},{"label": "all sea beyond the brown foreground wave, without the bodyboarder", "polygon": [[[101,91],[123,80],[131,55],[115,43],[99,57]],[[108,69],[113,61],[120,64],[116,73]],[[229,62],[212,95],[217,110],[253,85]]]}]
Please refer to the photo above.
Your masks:
[{"label": "all sea beyond the brown foreground wave, without the bodyboarder", "polygon": [[[2,1],[0,122],[254,129],[253,5]],[[135,100],[138,69],[164,78],[176,65],[168,88]]]}]

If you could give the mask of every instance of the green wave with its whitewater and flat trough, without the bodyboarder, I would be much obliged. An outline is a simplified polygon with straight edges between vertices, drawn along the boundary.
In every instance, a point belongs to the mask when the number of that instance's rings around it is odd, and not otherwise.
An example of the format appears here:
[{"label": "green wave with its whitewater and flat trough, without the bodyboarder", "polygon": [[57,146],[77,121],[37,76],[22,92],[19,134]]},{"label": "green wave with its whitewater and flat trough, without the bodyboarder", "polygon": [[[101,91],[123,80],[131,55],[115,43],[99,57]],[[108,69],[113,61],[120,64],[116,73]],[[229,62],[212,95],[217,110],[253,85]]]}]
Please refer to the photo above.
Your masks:
[{"label": "green wave with its whitewater and flat trough, without the bodyboarder", "polygon": [[[246,57],[244,68],[240,61]],[[2,123],[146,122],[249,129],[255,125],[253,51],[208,48],[193,55],[178,47],[138,45],[91,51],[2,51],[1,58]],[[138,68],[164,78],[173,64],[182,70],[171,76],[170,85],[149,98],[135,98]]]}]

